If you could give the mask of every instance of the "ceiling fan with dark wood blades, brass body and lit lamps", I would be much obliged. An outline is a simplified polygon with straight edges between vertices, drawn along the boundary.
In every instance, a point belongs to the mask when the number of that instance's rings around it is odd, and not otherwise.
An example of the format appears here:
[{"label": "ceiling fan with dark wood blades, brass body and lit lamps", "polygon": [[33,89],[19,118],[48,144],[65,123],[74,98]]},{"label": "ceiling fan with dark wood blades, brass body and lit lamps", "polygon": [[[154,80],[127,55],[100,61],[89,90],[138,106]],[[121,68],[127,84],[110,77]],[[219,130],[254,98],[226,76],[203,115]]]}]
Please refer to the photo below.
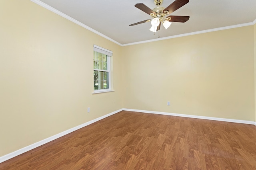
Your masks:
[{"label": "ceiling fan with dark wood blades, brass body and lit lamps", "polygon": [[[160,29],[161,23],[163,23],[165,29],[167,29],[171,22],[186,22],[189,19],[189,16],[167,16],[168,14],[171,14],[172,12],[178,10],[180,7],[184,6],[189,2],[189,0],[175,0],[170,4],[168,7],[164,8],[161,6],[163,0],[154,0],[154,3],[156,4],[156,8],[151,10],[143,3],[138,3],[135,5],[136,8],[139,8],[143,12],[146,12],[150,16],[152,16],[152,20],[144,20],[137,23],[133,23],[129,26],[138,25],[140,23],[145,23],[151,21],[152,27],[150,28],[150,31],[156,32]],[[165,17],[165,18],[164,18]]]}]

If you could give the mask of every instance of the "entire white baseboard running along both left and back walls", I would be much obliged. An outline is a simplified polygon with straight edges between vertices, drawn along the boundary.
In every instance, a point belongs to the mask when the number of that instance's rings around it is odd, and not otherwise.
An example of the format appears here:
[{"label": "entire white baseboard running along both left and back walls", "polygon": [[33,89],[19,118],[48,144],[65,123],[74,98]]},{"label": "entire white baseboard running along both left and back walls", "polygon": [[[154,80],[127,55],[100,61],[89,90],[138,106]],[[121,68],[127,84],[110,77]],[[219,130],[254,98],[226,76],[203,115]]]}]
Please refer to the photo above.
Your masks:
[{"label": "entire white baseboard running along both left and back walls", "polygon": [[224,118],[217,118],[217,117],[206,117],[206,116],[196,116],[196,115],[185,115],[185,114],[177,114],[177,113],[166,113],[166,112],[159,112],[159,111],[147,111],[147,110],[137,110],[137,109],[119,109],[117,111],[113,111],[112,113],[109,113],[107,115],[98,117],[96,119],[93,119],[91,121],[88,121],[82,125],[78,125],[76,127],[73,127],[71,129],[68,129],[64,132],[58,133],[57,135],[54,135],[52,137],[48,137],[42,141],[39,141],[37,143],[34,143],[32,145],[29,145],[27,147],[24,147],[22,149],[16,150],[10,154],[6,154],[2,157],[0,157],[0,163],[9,160],[11,158],[14,158],[15,156],[18,156],[20,154],[23,154],[25,152],[28,152],[29,150],[35,149],[36,147],[40,147],[41,145],[44,145],[50,141],[53,141],[55,139],[58,139],[64,135],[67,135],[68,133],[72,133],[78,129],[81,129],[82,127],[86,127],[92,123],[95,123],[96,121],[99,121],[101,119],[104,119],[108,116],[114,115],[120,111],[135,111],[135,112],[142,112],[142,113],[152,113],[152,114],[160,114],[160,115],[170,115],[170,116],[179,116],[179,117],[190,117],[190,118],[196,118],[196,119],[207,119],[207,120],[216,120],[216,121],[226,121],[226,122],[233,122],[233,123],[244,123],[244,124],[249,124],[249,125],[256,125],[256,122],[254,121],[245,121],[245,120],[236,120],[236,119],[224,119]]}]

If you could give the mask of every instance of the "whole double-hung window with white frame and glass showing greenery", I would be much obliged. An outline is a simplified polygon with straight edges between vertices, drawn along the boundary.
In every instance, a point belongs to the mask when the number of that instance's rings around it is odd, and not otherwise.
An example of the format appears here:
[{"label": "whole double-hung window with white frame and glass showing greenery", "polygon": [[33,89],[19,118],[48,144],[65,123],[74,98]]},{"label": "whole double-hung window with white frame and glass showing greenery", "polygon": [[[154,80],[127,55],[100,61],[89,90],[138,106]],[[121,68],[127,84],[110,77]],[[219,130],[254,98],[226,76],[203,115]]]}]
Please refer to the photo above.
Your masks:
[{"label": "whole double-hung window with white frame and glass showing greenery", "polygon": [[111,90],[110,57],[112,51],[94,45],[93,76],[94,92]]}]

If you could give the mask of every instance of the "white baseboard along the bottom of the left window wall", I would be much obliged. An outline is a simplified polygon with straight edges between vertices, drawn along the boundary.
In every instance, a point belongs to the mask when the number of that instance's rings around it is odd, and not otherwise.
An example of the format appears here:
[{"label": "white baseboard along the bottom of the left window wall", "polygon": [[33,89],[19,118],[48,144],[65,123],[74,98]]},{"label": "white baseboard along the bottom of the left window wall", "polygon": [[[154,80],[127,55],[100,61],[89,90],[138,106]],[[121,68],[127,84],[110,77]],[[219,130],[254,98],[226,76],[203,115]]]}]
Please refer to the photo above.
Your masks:
[{"label": "white baseboard along the bottom of the left window wall", "polygon": [[66,130],[66,131],[64,131],[64,132],[58,133],[57,135],[54,135],[54,136],[52,136],[52,137],[48,137],[48,138],[46,138],[46,139],[44,139],[44,140],[42,140],[42,141],[39,141],[39,142],[37,142],[37,143],[34,143],[34,144],[29,145],[29,146],[27,146],[27,147],[24,147],[24,148],[22,148],[22,149],[16,150],[16,151],[14,151],[14,152],[12,152],[12,153],[9,153],[9,154],[6,154],[6,155],[4,155],[4,156],[1,156],[1,157],[0,157],[0,163],[4,162],[4,161],[6,161],[6,160],[9,160],[9,159],[11,159],[11,158],[14,158],[15,156],[18,156],[18,155],[23,154],[23,153],[25,153],[25,152],[28,152],[29,150],[35,149],[36,147],[40,147],[41,145],[44,145],[44,144],[46,144],[46,143],[48,143],[48,142],[50,142],[50,141],[53,141],[53,140],[55,140],[55,139],[58,139],[58,138],[60,138],[60,137],[62,137],[62,136],[64,136],[64,135],[67,135],[68,133],[71,133],[71,132],[74,132],[74,131],[76,131],[76,130],[78,130],[78,129],[81,129],[82,127],[86,127],[86,126],[88,126],[88,125],[90,125],[90,124],[92,124],[92,123],[95,123],[96,121],[99,121],[99,120],[104,119],[104,118],[106,118],[106,117],[108,117],[108,116],[114,115],[114,114],[116,114],[116,113],[118,113],[118,112],[120,112],[120,111],[122,111],[122,109],[119,109],[119,110],[117,110],[117,111],[114,111],[114,112],[112,112],[112,113],[109,113],[109,114],[107,114],[107,115],[104,115],[104,116],[102,116],[102,117],[98,117],[98,118],[96,118],[96,119],[93,119],[93,120],[91,120],[91,121],[88,121],[88,122],[86,122],[86,123],[83,123],[82,125],[78,125],[78,126],[76,126],[76,127],[73,127],[73,128],[71,128],[71,129],[68,129],[68,130]]}]

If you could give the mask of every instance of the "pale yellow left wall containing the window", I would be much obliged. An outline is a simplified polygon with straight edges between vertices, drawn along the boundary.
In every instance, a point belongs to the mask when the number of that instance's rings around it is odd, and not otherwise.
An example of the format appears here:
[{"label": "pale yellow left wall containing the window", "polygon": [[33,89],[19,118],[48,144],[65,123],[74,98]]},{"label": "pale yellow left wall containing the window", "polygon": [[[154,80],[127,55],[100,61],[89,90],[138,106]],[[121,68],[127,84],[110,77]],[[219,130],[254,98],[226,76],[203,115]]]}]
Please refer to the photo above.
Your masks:
[{"label": "pale yellow left wall containing the window", "polygon": [[[1,0],[0,25],[0,156],[122,108],[121,46],[30,0]],[[92,94],[93,44],[115,92]]]}]

